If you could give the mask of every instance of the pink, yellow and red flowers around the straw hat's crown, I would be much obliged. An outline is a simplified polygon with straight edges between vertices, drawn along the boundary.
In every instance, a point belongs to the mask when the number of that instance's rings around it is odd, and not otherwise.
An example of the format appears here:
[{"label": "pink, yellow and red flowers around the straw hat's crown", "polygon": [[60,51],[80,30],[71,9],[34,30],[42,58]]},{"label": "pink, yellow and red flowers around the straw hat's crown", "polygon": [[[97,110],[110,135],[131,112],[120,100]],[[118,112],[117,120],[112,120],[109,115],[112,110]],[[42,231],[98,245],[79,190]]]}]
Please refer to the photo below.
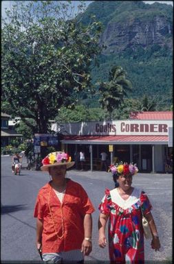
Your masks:
[{"label": "pink, yellow and red flowers around the straw hat's crown", "polygon": [[52,152],[42,160],[43,165],[51,165],[54,163],[69,163],[72,157],[65,152]]}]

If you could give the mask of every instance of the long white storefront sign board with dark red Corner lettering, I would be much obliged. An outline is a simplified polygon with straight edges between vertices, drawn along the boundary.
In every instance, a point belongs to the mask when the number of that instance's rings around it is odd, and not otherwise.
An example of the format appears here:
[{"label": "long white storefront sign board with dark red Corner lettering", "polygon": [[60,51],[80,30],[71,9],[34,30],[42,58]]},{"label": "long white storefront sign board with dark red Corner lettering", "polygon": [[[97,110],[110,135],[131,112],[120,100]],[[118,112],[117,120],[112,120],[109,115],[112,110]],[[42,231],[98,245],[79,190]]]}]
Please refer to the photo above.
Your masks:
[{"label": "long white storefront sign board with dark red Corner lettering", "polygon": [[[122,120],[111,122],[82,122],[61,124],[71,135],[159,135],[167,136],[172,120]],[[57,131],[58,132],[58,131]]]}]

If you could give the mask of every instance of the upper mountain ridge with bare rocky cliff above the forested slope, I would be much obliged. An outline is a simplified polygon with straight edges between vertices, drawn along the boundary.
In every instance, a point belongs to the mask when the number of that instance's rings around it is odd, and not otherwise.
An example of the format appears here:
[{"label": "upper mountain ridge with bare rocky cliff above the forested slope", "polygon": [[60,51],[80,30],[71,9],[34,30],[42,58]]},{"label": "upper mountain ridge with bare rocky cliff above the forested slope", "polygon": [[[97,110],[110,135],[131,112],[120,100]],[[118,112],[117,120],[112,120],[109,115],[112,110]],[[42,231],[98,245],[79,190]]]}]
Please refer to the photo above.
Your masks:
[{"label": "upper mountain ridge with bare rocky cliff above the forested slope", "polygon": [[127,47],[135,49],[136,45],[145,48],[159,44],[172,49],[172,10],[170,5],[161,3],[148,5],[143,1],[94,1],[83,14],[83,23],[90,15],[95,15],[104,25],[100,47],[105,45],[107,48],[102,53],[116,53]]}]

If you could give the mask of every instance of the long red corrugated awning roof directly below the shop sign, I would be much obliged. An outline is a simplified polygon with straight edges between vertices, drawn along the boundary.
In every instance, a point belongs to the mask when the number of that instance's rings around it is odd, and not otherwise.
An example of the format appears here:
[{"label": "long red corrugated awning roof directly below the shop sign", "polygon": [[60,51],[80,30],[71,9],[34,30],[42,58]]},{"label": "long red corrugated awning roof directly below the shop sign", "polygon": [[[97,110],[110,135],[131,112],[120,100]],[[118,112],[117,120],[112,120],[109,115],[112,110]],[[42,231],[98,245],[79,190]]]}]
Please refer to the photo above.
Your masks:
[{"label": "long red corrugated awning roof directly below the shop sign", "polygon": [[82,141],[83,143],[88,142],[103,142],[110,144],[113,142],[122,143],[122,142],[164,142],[168,143],[168,136],[65,136],[63,141]]}]

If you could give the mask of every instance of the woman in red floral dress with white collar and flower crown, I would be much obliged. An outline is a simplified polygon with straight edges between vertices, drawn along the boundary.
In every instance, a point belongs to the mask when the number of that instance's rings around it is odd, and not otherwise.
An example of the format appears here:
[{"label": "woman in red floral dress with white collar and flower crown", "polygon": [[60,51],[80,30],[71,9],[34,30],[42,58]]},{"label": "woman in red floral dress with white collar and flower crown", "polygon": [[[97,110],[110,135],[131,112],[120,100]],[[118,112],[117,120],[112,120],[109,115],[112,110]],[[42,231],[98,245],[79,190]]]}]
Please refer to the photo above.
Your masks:
[{"label": "woman in red floral dress with white collar and flower crown", "polygon": [[132,176],[138,172],[135,165],[111,165],[110,169],[118,175],[119,187],[111,191],[105,190],[105,196],[99,206],[98,244],[101,248],[107,245],[105,228],[109,219],[111,263],[144,263],[142,211],[151,228],[151,248],[155,251],[160,249],[160,240],[151,214],[151,203],[144,191],[131,187]]}]

